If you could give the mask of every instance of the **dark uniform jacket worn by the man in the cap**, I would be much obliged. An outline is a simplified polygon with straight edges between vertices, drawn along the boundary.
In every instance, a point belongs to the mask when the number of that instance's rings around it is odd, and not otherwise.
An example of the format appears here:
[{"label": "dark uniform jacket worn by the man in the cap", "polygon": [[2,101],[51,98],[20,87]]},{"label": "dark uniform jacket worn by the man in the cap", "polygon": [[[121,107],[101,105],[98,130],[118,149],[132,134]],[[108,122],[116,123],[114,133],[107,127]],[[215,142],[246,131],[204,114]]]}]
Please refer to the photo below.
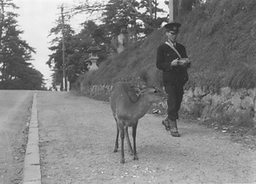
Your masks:
[{"label": "dark uniform jacket worn by the man in the cap", "polygon": [[[181,43],[176,43],[176,49],[182,58],[188,58],[185,47]],[[179,58],[177,53],[166,43],[160,44],[157,49],[156,66],[162,71],[164,85],[181,85],[183,86],[188,80],[187,68],[185,66],[171,66],[172,60]]]}]

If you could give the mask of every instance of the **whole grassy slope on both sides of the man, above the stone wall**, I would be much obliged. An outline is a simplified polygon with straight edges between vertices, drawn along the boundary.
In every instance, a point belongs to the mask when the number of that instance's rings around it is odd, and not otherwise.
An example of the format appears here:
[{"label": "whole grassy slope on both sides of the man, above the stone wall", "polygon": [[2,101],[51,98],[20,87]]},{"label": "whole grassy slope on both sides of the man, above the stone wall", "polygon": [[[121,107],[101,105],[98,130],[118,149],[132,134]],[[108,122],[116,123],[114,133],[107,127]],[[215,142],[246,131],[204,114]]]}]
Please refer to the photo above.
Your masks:
[{"label": "whole grassy slope on both sides of the man, above the stone wall", "polygon": [[[178,41],[186,46],[192,60],[188,87],[256,86],[255,17],[255,0],[212,0],[178,20],[183,25]],[[150,82],[157,84],[160,73],[155,67],[156,49],[165,41],[164,30],[156,30],[79,80],[88,84],[130,81],[145,71]]]}]

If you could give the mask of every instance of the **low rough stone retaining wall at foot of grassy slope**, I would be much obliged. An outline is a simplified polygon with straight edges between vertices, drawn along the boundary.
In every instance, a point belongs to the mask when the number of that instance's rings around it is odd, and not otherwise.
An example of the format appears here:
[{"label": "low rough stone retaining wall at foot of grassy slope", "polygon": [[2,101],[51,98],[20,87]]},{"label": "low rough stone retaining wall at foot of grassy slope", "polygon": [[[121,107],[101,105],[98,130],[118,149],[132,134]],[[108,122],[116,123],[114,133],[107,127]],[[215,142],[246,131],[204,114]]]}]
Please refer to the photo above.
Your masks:
[{"label": "low rough stone retaining wall at foot of grassy slope", "polygon": [[[105,84],[80,86],[81,91],[86,91],[90,96],[105,96],[106,101],[112,88],[112,85]],[[166,107],[166,102],[161,103],[160,106]],[[185,90],[183,95],[182,111],[198,118],[222,118],[233,124],[253,121],[256,126],[256,89],[235,91],[224,87],[216,94],[203,87],[190,88]]]}]

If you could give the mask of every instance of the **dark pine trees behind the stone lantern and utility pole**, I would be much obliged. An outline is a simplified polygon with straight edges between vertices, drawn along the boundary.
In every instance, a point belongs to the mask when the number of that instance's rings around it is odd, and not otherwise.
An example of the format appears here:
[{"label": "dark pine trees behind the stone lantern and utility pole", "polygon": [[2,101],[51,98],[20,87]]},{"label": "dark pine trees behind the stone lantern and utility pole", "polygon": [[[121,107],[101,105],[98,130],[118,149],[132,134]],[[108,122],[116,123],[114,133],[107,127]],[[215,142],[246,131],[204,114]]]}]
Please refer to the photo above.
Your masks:
[{"label": "dark pine trees behind the stone lantern and utility pole", "polygon": [[[63,76],[63,56],[62,56],[62,37],[65,42],[65,68],[67,72],[67,78],[71,83],[74,83],[80,74],[88,71],[89,62],[86,60],[89,58],[87,50],[91,44],[95,41],[101,48],[99,60],[97,65],[100,65],[102,60],[106,60],[109,55],[115,50],[112,42],[121,29],[130,27],[132,32],[136,32],[134,35],[143,33],[149,34],[153,32],[151,29],[153,26],[154,19],[148,15],[149,9],[147,8],[148,1],[141,0],[140,3],[137,1],[108,1],[107,4],[95,3],[90,5],[86,2],[80,4],[74,10],[74,14],[80,11],[88,11],[93,13],[98,10],[102,10],[102,24],[96,25],[95,21],[87,20],[84,21],[84,28],[78,34],[74,34],[73,29],[67,23],[68,14],[62,16],[64,20],[57,20],[56,26],[50,30],[50,35],[55,34],[55,38],[52,40],[54,46],[49,49],[53,54],[49,55],[49,60],[46,62],[50,68],[55,71],[53,75],[53,84],[62,83]],[[162,9],[157,9],[156,5],[153,4],[154,12],[162,12]],[[146,9],[143,13],[138,9]],[[152,14],[151,14],[152,15]],[[149,18],[151,23],[149,22]],[[142,20],[144,23],[139,23],[137,20]],[[155,20],[157,27],[166,20],[166,18],[159,18]],[[64,24],[63,24],[64,22]],[[144,26],[143,26],[144,25]],[[151,25],[151,28],[148,28]],[[155,26],[155,25],[154,25]],[[144,27],[144,28],[143,28]],[[64,33],[61,35],[60,33]],[[136,38],[137,40],[137,38]]]}]

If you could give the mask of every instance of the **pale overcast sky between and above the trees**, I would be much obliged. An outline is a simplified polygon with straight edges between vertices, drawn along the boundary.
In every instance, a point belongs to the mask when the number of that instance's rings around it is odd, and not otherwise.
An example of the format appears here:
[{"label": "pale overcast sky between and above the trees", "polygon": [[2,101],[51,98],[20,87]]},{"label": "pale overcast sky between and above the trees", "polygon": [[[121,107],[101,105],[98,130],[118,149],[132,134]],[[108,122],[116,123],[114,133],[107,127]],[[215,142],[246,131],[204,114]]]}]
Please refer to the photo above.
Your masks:
[{"label": "pale overcast sky between and above the trees", "polygon": [[[90,2],[95,1],[98,0],[90,0]],[[32,65],[44,75],[48,88],[51,86],[50,76],[53,72],[50,71],[46,62],[52,54],[49,47],[50,41],[54,38],[48,37],[49,31],[55,26],[55,20],[61,14],[59,9],[61,5],[64,3],[70,6],[78,2],[79,0],[13,0],[13,3],[20,8],[15,10],[15,13],[19,14],[17,17],[19,29],[24,32],[20,37],[36,50],[36,54],[32,54]],[[164,0],[160,0],[160,4],[163,2]],[[73,17],[69,22],[76,32],[82,28],[79,24],[85,21],[84,18],[81,19],[82,16]]]}]

